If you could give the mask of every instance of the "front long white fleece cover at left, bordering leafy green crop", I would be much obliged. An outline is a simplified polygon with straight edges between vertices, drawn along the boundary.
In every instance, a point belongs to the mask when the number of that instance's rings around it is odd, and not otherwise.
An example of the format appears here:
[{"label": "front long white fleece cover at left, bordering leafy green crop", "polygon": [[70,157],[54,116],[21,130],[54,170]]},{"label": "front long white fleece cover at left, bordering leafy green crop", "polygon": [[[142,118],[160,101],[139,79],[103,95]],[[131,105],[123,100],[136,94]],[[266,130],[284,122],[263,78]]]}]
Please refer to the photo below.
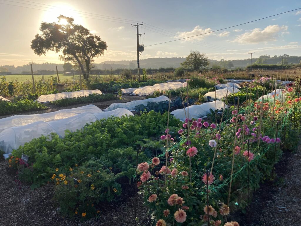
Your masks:
[{"label": "front long white fleece cover at left, bordering leafy green crop", "polygon": [[17,149],[20,145],[24,145],[26,142],[42,135],[49,136],[51,133],[57,133],[60,137],[64,137],[65,130],[74,132],[96,120],[109,118],[110,116],[121,117],[123,115],[129,116],[133,114],[125,108],[117,108],[113,111],[93,114],[85,112],[60,120],[49,122],[37,121],[24,126],[7,128],[0,132],[0,150],[4,151],[4,157],[8,158],[13,149]]}]

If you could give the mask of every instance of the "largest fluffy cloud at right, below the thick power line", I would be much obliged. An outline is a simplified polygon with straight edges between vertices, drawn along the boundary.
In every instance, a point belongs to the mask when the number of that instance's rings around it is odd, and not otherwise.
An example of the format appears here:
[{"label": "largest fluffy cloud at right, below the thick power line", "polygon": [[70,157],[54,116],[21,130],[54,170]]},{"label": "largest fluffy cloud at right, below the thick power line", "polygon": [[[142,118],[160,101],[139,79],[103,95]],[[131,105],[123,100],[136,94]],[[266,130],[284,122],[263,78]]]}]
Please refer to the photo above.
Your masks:
[{"label": "largest fluffy cloud at right, below the thick power line", "polygon": [[279,32],[287,30],[287,26],[269,25],[265,29],[255,28],[250,32],[245,32],[237,36],[232,42],[238,42],[240,44],[250,44],[259,42],[276,41],[279,36]]}]

